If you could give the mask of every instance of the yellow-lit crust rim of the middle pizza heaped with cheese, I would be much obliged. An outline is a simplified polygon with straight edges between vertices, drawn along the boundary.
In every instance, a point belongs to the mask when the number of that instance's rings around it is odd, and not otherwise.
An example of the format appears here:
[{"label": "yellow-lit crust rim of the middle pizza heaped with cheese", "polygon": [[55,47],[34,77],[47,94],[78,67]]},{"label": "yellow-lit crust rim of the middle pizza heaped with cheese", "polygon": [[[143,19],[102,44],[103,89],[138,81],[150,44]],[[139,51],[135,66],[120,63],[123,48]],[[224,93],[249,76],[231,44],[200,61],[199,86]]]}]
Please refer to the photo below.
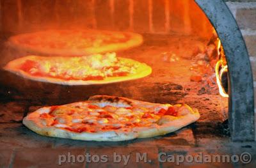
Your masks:
[{"label": "yellow-lit crust rim of the middle pizza heaped with cheese", "polygon": [[[48,58],[48,57],[47,57]],[[119,59],[129,62],[129,63],[139,63],[138,61],[135,61],[133,59],[128,59],[124,57],[118,57]],[[20,65],[24,63],[26,60],[40,60],[45,59],[45,57],[42,56],[26,56],[26,57],[20,57],[18,59],[14,59],[13,61],[10,61],[6,66],[4,66],[4,70],[7,70],[9,72],[15,73],[16,75],[19,75],[21,77],[24,77],[26,79],[30,80],[36,80],[40,82],[50,82],[54,84],[62,84],[62,85],[90,85],[90,84],[109,84],[113,82],[122,82],[126,80],[134,80],[134,79],[140,79],[142,77],[146,77],[147,75],[150,75],[152,72],[152,68],[150,66],[146,65],[145,63],[140,63],[140,66],[138,67],[137,73],[135,74],[129,74],[124,77],[107,77],[104,80],[65,80],[65,79],[58,79],[54,77],[40,77],[40,76],[33,76],[30,73],[24,72],[23,70],[20,70]],[[70,57],[52,57],[51,59],[70,59]]]}]

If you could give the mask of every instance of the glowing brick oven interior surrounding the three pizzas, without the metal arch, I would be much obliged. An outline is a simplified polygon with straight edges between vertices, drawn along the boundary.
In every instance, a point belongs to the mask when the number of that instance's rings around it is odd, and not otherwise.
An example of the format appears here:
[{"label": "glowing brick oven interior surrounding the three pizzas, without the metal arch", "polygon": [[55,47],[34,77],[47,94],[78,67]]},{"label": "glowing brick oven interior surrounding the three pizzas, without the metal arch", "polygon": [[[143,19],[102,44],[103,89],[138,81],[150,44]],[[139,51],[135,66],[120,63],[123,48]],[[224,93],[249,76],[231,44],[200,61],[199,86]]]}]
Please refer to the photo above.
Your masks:
[{"label": "glowing brick oven interior surrounding the three pizzas, without the metal arch", "polygon": [[[161,151],[192,155],[200,151],[215,154],[250,151],[255,157],[255,142],[236,144],[228,140],[228,98],[220,95],[214,72],[220,57],[218,50],[221,50],[218,35],[194,1],[2,0],[0,10],[1,67],[17,57],[36,54],[9,46],[6,42],[14,34],[92,28],[142,34],[141,46],[116,54],[147,63],[153,69],[152,74],[143,79],[98,86],[36,82],[1,69],[0,149],[4,151],[0,152],[0,167],[36,165],[40,160],[35,156],[47,160],[40,165],[51,165],[57,155],[67,151],[76,155],[147,152],[154,158],[149,164],[152,167],[168,166],[159,164],[155,158]],[[201,117],[172,134],[128,142],[43,137],[22,125],[22,119],[40,107],[82,101],[93,95],[125,96],[154,103],[187,103],[198,109]],[[56,158],[49,159],[50,153]],[[93,163],[78,165],[93,166]]]}]

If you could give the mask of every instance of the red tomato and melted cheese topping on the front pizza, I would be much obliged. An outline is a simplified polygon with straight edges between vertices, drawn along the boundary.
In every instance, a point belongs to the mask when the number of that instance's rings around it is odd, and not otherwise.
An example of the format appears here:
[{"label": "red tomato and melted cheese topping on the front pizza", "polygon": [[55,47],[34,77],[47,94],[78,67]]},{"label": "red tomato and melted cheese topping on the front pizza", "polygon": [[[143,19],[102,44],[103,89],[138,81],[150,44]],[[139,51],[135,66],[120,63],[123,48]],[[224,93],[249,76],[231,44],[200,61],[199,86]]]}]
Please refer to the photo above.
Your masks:
[{"label": "red tomato and melted cheese topping on the front pizza", "polygon": [[[158,107],[157,107],[158,108]],[[159,109],[159,108],[158,108]],[[156,107],[113,107],[106,105],[99,107],[87,102],[60,105],[51,108],[51,111],[40,113],[40,118],[47,126],[63,128],[72,132],[102,132],[150,126],[164,121],[162,116],[177,116],[177,111],[172,105],[163,105],[156,111]]]}]

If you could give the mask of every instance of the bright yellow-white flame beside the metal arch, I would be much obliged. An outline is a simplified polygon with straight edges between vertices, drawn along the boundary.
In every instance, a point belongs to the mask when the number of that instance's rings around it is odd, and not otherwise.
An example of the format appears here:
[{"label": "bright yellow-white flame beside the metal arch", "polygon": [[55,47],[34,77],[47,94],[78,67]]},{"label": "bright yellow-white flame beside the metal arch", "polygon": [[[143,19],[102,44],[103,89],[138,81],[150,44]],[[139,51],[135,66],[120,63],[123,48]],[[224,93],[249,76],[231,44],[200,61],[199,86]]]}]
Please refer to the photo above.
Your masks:
[{"label": "bright yellow-white flame beside the metal arch", "polygon": [[217,45],[218,50],[217,50],[217,52],[218,52],[219,60],[216,63],[216,66],[215,66],[216,81],[217,81],[217,84],[218,84],[220,95],[223,96],[223,97],[228,97],[228,94],[225,92],[225,89],[223,88],[223,86],[221,84],[221,77],[222,77],[224,72],[228,72],[228,66],[227,66],[227,62],[226,62],[226,59],[225,59],[225,55],[220,52],[221,50],[223,51],[223,49],[221,49],[220,39],[217,38],[217,41],[218,41],[218,45]]}]

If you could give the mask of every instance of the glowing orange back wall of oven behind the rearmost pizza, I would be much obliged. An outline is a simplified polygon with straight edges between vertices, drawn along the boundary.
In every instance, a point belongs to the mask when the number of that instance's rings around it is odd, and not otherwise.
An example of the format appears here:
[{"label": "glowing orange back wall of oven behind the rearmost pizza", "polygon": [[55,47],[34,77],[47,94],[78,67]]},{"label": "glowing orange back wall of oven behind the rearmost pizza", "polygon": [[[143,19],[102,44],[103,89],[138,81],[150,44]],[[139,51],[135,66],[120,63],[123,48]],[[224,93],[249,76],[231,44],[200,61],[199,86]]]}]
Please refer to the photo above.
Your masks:
[{"label": "glowing orange back wall of oven behind the rearmost pizza", "polygon": [[89,27],[212,36],[211,23],[193,0],[6,0],[0,1],[0,24],[0,31],[15,34]]}]

